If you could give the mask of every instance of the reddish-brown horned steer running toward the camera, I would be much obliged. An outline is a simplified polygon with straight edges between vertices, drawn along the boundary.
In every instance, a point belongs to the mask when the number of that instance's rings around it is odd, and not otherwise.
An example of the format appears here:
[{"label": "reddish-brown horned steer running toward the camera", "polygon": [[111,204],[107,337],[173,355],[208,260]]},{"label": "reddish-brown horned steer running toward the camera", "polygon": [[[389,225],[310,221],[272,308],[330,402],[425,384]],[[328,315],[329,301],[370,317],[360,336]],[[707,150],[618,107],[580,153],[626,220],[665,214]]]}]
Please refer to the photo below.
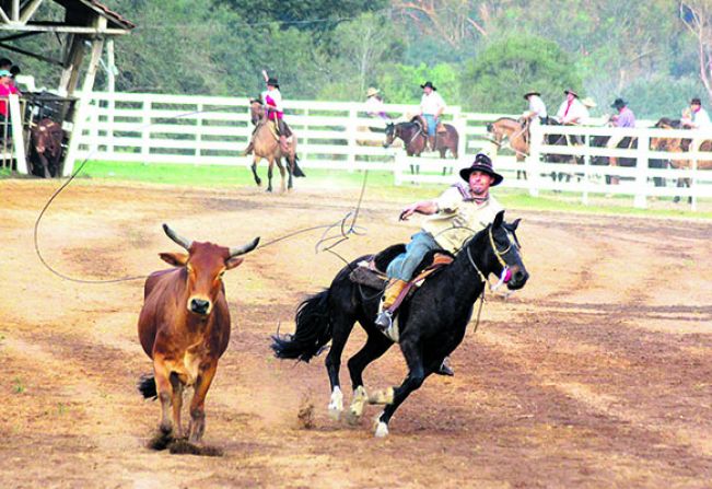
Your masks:
[{"label": "reddish-brown horned steer running toward the camera", "polygon": [[243,261],[238,255],[255,249],[259,237],[242,247],[226,248],[186,240],[167,224],[163,230],[188,254],[161,253],[164,261],[177,268],[155,271],[145,280],[139,339],[153,359],[153,376],[141,380],[139,389],[147,398],[161,399],[162,434],[179,439],[183,389],[192,386],[188,440],[195,443],[206,428],[206,394],[230,340],[222,276]]}]

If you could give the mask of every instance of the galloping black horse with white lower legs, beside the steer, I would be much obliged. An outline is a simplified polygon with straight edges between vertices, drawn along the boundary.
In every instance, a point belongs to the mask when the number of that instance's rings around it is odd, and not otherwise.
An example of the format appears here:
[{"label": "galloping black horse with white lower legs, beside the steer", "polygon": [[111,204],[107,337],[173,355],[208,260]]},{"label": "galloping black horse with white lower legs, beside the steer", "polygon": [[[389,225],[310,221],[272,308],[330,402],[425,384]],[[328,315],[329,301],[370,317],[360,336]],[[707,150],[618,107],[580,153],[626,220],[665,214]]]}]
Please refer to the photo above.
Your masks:
[{"label": "galloping black horse with white lower legs, beside the steer", "polygon": [[[387,435],[388,421],[398,406],[436,372],[443,359],[463,341],[474,304],[485,290],[485,277],[502,276],[507,267],[510,289],[521,289],[526,283],[529,276],[515,235],[518,222],[517,219],[505,223],[504,211],[501,211],[492,224],[469,240],[451,265],[425,280],[412,299],[400,306],[398,336],[408,375],[399,387],[367,395],[363,386],[363,370],[393,345],[374,324],[381,294],[374,289],[364,290],[349,278],[358,263],[373,256],[352,261],[339,271],[327,290],[304,301],[296,312],[294,335],[272,337],[275,353],[278,358],[308,362],[332,340],[326,369],[331,383],[329,411],[338,418],[343,410],[339,382],[341,352],[358,321],[369,338],[348,362],[353,388],[350,416],[352,420],[360,419],[366,403],[385,404],[375,434]],[[385,269],[401,249],[402,245],[396,245],[382,252],[375,257],[376,266]]]}]

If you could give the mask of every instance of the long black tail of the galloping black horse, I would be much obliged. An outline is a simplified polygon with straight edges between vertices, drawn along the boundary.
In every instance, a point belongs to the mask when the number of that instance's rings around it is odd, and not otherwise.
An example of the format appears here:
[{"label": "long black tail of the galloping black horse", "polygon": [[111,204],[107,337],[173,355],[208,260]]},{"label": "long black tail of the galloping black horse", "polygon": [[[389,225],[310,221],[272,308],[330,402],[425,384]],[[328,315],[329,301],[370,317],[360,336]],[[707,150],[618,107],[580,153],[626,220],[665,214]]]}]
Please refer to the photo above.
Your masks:
[{"label": "long black tail of the galloping black horse", "polygon": [[293,335],[272,336],[272,350],[277,358],[300,359],[308,362],[319,354],[331,340],[329,290],[312,295],[296,310],[296,331]]}]

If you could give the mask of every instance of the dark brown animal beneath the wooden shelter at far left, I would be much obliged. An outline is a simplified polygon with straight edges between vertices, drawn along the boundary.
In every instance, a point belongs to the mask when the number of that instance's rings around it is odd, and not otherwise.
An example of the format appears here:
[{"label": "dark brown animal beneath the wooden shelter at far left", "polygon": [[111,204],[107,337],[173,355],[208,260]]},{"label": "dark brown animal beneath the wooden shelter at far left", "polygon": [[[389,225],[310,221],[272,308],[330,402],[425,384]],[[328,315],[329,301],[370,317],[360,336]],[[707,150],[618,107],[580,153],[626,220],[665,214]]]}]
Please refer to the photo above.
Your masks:
[{"label": "dark brown animal beneath the wooden shelter at far left", "polygon": [[59,174],[65,131],[45,117],[30,129],[30,173],[50,178]]}]

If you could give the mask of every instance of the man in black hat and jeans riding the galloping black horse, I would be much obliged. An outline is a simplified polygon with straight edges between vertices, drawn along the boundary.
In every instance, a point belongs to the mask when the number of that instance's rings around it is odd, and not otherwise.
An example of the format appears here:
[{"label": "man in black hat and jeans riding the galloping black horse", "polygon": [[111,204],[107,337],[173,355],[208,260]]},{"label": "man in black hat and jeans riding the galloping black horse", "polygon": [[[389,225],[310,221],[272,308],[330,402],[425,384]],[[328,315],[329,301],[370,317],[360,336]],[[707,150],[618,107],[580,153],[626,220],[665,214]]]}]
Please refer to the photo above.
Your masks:
[{"label": "man in black hat and jeans riding the galloping black horse", "polygon": [[[457,253],[467,240],[492,223],[502,210],[502,206],[490,195],[490,187],[502,183],[503,177],[494,172],[492,160],[487,154],[477,154],[470,166],[459,171],[459,176],[464,182],[451,186],[436,199],[412,203],[400,213],[401,221],[415,213],[432,217],[411,236],[406,252],[388,265],[388,283],[375,319],[384,331],[393,325],[394,303],[428,252],[445,249]],[[446,362],[440,373],[453,374]]]}]

